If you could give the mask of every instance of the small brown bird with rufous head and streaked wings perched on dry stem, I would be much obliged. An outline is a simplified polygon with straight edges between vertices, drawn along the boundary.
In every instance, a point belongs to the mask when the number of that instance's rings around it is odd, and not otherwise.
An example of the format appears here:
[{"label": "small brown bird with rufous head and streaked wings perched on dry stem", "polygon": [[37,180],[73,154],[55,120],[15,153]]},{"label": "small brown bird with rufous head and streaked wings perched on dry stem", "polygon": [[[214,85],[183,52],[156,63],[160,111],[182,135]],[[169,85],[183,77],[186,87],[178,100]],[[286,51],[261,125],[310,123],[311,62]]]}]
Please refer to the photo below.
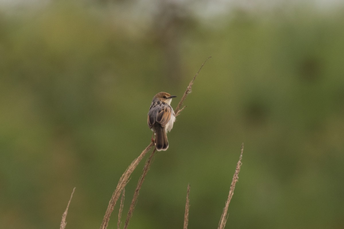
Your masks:
[{"label": "small brown bird with rufous head and streaked wings perched on dry stem", "polygon": [[166,133],[173,127],[175,121],[172,98],[177,97],[166,92],[159,92],[153,97],[148,112],[148,126],[154,131],[154,144],[158,151],[169,148]]}]

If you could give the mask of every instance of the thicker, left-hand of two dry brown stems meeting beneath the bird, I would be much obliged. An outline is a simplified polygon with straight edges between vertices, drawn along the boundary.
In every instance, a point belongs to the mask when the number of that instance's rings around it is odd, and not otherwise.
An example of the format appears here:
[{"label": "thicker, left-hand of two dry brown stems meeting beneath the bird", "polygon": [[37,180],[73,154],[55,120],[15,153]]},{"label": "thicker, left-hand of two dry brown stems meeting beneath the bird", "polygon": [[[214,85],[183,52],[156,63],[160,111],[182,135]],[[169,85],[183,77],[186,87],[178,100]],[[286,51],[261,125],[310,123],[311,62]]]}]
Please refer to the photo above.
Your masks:
[{"label": "thicker, left-hand of two dry brown stems meeting beneath the bird", "polygon": [[112,194],[112,197],[110,199],[109,205],[106,209],[105,212],[105,216],[103,219],[103,222],[101,223],[100,229],[105,229],[109,223],[110,220],[110,215],[112,213],[112,211],[114,210],[114,207],[116,205],[116,202],[123,190],[123,188],[127,185],[130,175],[131,173],[135,170],[135,168],[137,167],[137,165],[140,163],[140,161],[142,160],[142,158],[146,155],[146,153],[154,146],[154,142],[151,142],[146,149],[144,149],[140,156],[138,158],[136,158],[135,160],[133,160],[133,162],[131,162],[131,164],[129,165],[129,167],[127,168],[127,170],[123,173],[123,175],[121,176],[121,178],[118,181],[117,187],[115,192]]}]

